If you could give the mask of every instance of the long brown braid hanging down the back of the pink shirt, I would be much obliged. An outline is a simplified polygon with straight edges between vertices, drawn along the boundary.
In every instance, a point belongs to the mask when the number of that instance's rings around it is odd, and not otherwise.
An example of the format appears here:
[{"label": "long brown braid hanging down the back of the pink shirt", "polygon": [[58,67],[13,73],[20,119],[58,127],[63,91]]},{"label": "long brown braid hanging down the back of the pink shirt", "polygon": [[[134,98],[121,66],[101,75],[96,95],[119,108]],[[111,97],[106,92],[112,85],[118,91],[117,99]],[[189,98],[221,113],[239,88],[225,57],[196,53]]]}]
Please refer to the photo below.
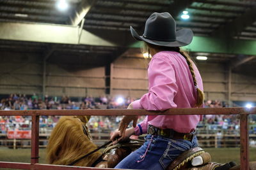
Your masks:
[{"label": "long brown braid hanging down the back of the pink shirt", "polygon": [[[188,67],[189,67],[189,70],[190,70],[190,73],[192,74],[192,78],[193,78],[193,81],[194,81],[194,85],[195,87],[197,86],[197,82],[196,82],[196,75],[195,75],[195,71],[193,69],[193,62],[191,61],[188,53],[186,52],[183,52],[182,50],[180,50],[179,48],[179,53],[186,59],[187,63],[188,63]],[[196,94],[197,94],[197,97],[196,97],[196,106],[197,107],[200,107],[202,106],[202,104],[204,103],[204,92],[202,92],[202,90],[200,90],[198,87],[196,87]]]}]

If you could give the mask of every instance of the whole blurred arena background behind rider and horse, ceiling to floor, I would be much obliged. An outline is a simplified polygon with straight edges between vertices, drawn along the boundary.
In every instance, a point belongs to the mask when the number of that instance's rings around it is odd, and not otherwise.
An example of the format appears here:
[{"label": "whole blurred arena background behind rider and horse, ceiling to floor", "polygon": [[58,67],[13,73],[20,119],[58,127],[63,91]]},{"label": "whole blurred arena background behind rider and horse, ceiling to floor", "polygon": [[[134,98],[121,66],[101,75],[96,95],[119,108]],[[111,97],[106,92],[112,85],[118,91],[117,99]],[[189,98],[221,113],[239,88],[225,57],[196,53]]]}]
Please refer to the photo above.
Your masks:
[{"label": "whole blurred arena background behind rider and horse, ceiling to floor", "polygon": [[[154,11],[170,12],[177,30],[193,30],[182,49],[202,75],[205,107],[256,106],[255,1],[0,0],[0,109],[127,108],[148,91],[151,58],[129,27],[143,34]],[[42,162],[59,118],[40,117]],[[93,141],[108,141],[121,118],[92,117]],[[255,115],[249,124],[255,160]],[[31,117],[0,117],[0,127],[0,160],[29,162]],[[216,161],[239,162],[238,116],[206,115],[197,136]]]}]

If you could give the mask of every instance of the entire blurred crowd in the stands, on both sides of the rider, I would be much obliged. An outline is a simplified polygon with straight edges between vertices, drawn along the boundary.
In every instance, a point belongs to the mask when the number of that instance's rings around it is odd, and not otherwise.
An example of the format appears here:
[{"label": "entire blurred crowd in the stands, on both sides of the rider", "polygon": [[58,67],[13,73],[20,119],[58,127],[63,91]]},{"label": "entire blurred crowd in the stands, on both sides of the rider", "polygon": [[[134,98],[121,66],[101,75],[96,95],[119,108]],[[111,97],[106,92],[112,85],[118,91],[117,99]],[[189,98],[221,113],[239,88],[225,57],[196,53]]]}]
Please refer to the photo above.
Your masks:
[{"label": "entire blurred crowd in the stands, on both sides of the rider", "polygon": [[[124,109],[134,101],[130,97],[111,97],[87,96],[80,101],[72,101],[67,96],[63,97],[40,97],[36,94],[26,96],[24,94],[11,94],[1,99],[0,110],[86,110],[86,109]],[[222,108],[227,107],[227,103],[221,101],[205,101],[205,108]],[[40,117],[40,127],[54,127],[60,117]],[[100,129],[116,129],[122,117],[92,117],[89,125],[91,129],[100,131]],[[140,117],[141,119],[143,117]],[[255,124],[256,118],[250,120],[250,124]],[[199,126],[206,126],[209,129],[219,130],[237,130],[239,129],[239,118],[237,115],[205,115],[204,120]],[[6,129],[20,129],[31,126],[31,117],[0,117],[0,131],[6,133]],[[256,128],[251,129],[252,133],[256,133]]]}]

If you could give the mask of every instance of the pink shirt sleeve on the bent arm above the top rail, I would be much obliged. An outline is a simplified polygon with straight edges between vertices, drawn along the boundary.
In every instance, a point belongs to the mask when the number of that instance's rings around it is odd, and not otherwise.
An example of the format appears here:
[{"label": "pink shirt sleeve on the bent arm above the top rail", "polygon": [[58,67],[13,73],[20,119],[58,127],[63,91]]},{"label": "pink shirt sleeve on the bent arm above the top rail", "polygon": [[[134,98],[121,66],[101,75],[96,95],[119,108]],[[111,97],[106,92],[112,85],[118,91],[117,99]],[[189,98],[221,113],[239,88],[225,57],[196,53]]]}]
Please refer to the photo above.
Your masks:
[{"label": "pink shirt sleeve on the bent arm above the top rail", "polygon": [[176,108],[173,99],[178,87],[173,65],[166,59],[155,57],[148,67],[149,92],[141,97],[141,108],[161,111]]}]

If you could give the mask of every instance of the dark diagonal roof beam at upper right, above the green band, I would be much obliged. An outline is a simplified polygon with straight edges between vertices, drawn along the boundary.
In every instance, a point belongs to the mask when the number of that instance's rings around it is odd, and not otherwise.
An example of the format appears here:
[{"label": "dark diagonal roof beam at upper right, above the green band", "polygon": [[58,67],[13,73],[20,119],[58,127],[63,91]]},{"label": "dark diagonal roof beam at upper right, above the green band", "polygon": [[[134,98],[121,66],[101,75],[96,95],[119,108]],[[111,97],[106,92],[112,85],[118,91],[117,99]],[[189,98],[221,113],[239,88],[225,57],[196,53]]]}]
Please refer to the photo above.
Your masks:
[{"label": "dark diagonal roof beam at upper right, above the green band", "polygon": [[220,29],[212,32],[213,36],[238,36],[246,27],[250,26],[256,20],[256,6],[246,11],[243,15],[232,22],[228,22]]}]

